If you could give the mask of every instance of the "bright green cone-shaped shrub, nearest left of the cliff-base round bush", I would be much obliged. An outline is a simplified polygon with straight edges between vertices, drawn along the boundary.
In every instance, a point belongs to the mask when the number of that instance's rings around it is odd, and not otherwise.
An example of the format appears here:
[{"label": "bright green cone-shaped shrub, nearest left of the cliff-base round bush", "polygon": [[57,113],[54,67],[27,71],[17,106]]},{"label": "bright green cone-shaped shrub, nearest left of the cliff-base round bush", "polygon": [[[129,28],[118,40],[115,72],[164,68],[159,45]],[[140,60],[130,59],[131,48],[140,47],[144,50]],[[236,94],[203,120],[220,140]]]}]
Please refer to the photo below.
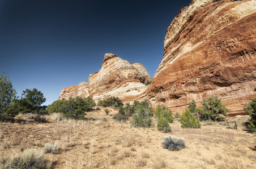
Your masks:
[{"label": "bright green cone-shaped shrub, nearest left of the cliff-base round bush", "polygon": [[186,108],[185,112],[182,113],[180,122],[183,128],[200,128],[201,127],[201,123],[199,119],[197,119],[195,115],[192,114],[188,108]]}]

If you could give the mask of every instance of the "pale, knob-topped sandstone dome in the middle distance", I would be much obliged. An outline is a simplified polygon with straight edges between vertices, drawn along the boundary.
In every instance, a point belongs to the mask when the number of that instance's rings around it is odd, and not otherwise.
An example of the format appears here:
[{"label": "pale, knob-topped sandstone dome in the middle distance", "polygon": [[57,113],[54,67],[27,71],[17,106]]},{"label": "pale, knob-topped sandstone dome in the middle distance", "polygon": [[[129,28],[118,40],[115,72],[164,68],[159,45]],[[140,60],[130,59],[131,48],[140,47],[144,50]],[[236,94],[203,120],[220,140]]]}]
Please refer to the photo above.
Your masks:
[{"label": "pale, knob-topped sandstone dome in the middle distance", "polygon": [[105,54],[99,72],[89,75],[89,96],[94,100],[118,96],[131,101],[146,90],[144,83],[152,81],[142,64],[130,64],[113,54]]}]

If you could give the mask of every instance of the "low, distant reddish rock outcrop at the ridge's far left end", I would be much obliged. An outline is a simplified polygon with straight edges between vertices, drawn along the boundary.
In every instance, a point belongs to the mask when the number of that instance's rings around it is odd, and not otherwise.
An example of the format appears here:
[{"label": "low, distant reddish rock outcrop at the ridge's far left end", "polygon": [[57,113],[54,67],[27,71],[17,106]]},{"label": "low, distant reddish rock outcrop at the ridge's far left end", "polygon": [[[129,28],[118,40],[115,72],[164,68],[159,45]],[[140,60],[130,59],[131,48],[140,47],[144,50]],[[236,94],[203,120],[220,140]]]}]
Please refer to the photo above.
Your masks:
[{"label": "low, distant reddish rock outcrop at the ridge's far left end", "polygon": [[62,88],[61,94],[59,95],[59,100],[67,100],[69,97],[87,97],[89,96],[89,82],[82,82],[77,86],[70,86]]}]

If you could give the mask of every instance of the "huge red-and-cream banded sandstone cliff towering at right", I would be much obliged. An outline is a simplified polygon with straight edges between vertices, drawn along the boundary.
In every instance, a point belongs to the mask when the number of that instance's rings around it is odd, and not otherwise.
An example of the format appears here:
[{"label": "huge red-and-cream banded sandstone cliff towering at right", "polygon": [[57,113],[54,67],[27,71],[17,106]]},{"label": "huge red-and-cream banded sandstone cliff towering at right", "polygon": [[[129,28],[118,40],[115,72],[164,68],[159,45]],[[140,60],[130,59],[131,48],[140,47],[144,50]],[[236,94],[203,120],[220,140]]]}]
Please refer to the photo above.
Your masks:
[{"label": "huge red-and-cream banded sandstone cliff towering at right", "polygon": [[167,29],[164,57],[147,90],[152,105],[181,112],[221,97],[231,114],[256,97],[256,1],[194,0]]}]

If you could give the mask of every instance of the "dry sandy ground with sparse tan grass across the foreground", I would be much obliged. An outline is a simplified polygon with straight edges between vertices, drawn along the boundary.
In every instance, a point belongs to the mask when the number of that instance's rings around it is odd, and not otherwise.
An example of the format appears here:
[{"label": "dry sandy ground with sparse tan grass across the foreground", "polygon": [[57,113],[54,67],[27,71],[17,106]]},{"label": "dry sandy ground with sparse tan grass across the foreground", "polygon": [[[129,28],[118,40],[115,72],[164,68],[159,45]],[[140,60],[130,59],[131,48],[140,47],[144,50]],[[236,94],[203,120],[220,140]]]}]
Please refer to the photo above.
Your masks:
[{"label": "dry sandy ground with sparse tan grass across the foreground", "polygon": [[[134,128],[129,121],[116,122],[117,111],[108,109],[108,115],[104,109],[87,113],[94,119],[89,121],[54,121],[53,114],[48,123],[0,123],[0,158],[58,142],[58,154],[45,154],[48,168],[256,168],[255,135],[242,126],[248,116],[202,122],[199,129],[182,128],[174,119],[172,132],[164,134],[155,118],[151,128]],[[238,130],[227,128],[234,122]],[[165,135],[185,137],[186,148],[163,149]]]}]

